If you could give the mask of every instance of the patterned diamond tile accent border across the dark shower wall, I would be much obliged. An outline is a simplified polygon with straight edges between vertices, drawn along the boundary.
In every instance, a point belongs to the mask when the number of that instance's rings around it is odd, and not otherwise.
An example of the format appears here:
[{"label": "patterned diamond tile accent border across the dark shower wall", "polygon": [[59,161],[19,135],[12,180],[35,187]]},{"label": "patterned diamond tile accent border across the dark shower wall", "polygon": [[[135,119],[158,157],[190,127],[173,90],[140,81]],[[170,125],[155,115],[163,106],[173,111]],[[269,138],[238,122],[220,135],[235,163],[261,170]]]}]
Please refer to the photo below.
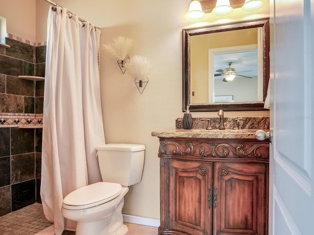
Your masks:
[{"label": "patterned diamond tile accent border across the dark shower wall", "polygon": [[40,128],[43,126],[43,114],[0,113],[1,127]]}]

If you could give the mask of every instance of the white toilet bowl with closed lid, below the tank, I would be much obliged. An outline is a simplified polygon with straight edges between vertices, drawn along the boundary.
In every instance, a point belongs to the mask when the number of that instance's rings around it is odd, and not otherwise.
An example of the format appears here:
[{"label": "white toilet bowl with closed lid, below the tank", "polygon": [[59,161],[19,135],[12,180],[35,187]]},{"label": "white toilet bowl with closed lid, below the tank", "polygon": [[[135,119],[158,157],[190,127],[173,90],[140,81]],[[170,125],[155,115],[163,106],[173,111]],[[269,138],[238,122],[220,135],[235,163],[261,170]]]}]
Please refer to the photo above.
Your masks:
[{"label": "white toilet bowl with closed lid, below the tank", "polygon": [[76,235],[126,235],[122,208],[128,191],[128,187],[106,182],[79,188],[64,198],[62,214],[77,221]]}]

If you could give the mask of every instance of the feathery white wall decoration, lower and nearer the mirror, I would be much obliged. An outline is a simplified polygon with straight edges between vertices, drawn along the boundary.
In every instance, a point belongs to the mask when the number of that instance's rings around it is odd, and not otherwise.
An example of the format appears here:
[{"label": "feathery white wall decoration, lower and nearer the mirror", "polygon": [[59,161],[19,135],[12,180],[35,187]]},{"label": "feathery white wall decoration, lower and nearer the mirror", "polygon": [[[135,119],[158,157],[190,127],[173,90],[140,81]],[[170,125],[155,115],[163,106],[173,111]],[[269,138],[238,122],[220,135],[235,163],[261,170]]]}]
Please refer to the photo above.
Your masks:
[{"label": "feathery white wall decoration, lower and nearer the mirror", "polygon": [[147,83],[147,74],[150,70],[150,62],[146,57],[135,55],[132,57],[129,71],[133,77],[135,77],[134,83],[140,94],[143,93]]}]

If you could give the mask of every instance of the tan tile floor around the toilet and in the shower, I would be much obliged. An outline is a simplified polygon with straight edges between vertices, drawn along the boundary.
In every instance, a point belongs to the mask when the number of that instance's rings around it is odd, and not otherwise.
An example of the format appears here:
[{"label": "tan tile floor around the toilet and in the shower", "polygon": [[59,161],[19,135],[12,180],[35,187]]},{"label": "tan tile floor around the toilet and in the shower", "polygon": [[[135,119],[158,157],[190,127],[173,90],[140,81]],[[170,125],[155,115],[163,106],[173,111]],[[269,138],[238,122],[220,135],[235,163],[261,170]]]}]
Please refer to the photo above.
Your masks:
[{"label": "tan tile floor around the toilet and in the shower", "polygon": [[[157,235],[158,228],[125,223],[129,228],[128,235]],[[18,211],[13,211],[0,217],[0,235],[36,235],[48,231],[52,223],[47,221],[42,205],[34,203]],[[75,235],[75,232],[63,231],[62,235]]]}]

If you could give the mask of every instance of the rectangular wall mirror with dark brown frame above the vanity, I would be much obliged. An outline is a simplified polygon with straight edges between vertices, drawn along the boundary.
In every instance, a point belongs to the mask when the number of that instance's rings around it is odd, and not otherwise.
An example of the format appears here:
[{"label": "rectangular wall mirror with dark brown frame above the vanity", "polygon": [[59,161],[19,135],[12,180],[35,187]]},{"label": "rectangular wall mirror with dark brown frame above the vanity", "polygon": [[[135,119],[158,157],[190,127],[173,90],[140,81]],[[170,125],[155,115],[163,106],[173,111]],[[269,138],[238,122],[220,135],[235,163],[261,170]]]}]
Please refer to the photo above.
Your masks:
[{"label": "rectangular wall mirror with dark brown frame above the vanity", "polygon": [[263,110],[268,19],[183,29],[183,111]]}]

